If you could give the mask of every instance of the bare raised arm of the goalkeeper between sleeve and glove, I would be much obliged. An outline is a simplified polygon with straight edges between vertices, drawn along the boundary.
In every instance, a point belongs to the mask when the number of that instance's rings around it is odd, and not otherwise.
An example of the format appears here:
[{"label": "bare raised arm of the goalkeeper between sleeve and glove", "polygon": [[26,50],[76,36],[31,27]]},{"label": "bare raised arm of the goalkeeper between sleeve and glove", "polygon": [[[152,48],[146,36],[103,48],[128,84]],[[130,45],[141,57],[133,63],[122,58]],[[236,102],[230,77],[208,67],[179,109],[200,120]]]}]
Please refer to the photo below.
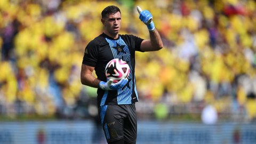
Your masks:
[{"label": "bare raised arm of the goalkeeper between sleeve and glove", "polygon": [[149,31],[150,39],[145,39],[142,41],[140,45],[140,50],[142,52],[149,52],[149,51],[158,51],[163,48],[162,39],[155,29],[154,31]]}]

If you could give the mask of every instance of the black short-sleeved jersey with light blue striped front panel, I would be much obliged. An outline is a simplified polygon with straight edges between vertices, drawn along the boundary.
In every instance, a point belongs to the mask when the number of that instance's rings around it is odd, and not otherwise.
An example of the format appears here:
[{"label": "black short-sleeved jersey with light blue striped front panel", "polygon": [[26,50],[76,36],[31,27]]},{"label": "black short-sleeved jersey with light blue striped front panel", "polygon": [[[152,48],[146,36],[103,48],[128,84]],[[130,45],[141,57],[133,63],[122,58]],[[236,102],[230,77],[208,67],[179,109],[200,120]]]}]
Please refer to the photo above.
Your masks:
[{"label": "black short-sleeved jersey with light blue striped front panel", "polygon": [[94,67],[100,81],[107,82],[105,67],[110,60],[122,59],[130,67],[128,83],[119,90],[98,89],[98,107],[103,105],[127,105],[139,101],[135,84],[135,51],[140,51],[143,39],[133,35],[118,35],[117,39],[102,33],[85,48],[83,64]]}]

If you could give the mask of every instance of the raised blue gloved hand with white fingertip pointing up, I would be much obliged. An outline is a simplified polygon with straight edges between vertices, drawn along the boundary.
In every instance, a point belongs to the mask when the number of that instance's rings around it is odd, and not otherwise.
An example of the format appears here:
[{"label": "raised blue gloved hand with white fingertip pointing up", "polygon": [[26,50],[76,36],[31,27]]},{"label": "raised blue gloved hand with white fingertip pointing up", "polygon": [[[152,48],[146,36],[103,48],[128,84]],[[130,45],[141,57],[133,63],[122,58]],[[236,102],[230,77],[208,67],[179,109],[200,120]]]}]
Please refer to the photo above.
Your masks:
[{"label": "raised blue gloved hand with white fingertip pointing up", "polygon": [[154,31],[155,30],[155,25],[154,25],[154,22],[152,21],[153,20],[152,14],[148,10],[142,11],[139,6],[137,6],[137,11],[140,14],[140,17],[139,17],[140,20],[142,22],[144,22],[145,25],[147,25],[148,30],[149,31]]}]

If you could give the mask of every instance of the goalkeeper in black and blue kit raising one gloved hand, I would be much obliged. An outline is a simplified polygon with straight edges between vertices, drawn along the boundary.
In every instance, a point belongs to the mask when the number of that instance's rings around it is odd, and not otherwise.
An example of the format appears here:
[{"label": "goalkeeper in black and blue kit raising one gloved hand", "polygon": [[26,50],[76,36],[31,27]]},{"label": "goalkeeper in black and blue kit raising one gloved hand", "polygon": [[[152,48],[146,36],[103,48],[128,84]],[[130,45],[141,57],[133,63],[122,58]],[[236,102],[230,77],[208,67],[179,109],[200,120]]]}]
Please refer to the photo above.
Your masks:
[{"label": "goalkeeper in black and blue kit raising one gloved hand", "polygon": [[[103,33],[94,38],[84,52],[81,82],[98,88],[99,116],[108,143],[136,143],[135,102],[139,100],[134,75],[135,51],[158,51],[163,47],[151,13],[147,10],[141,11],[140,7],[137,7],[137,10],[140,20],[148,27],[150,39],[119,35],[121,11],[111,5],[101,12]],[[131,70],[129,77],[121,79],[118,83],[108,81],[105,75],[105,67],[113,59],[126,61]],[[92,76],[93,70],[98,78]]]}]

